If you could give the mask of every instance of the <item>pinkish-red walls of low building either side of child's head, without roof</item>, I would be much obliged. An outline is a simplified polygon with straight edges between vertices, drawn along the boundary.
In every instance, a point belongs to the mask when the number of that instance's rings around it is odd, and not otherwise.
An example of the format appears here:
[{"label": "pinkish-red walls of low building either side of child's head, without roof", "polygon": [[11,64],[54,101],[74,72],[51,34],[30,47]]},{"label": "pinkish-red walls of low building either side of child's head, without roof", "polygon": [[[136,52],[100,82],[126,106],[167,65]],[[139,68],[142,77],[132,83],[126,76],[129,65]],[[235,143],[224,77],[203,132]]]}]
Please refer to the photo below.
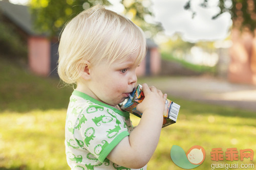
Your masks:
[{"label": "pinkish-red walls of low building either side of child's head, without roof", "polygon": [[[56,50],[53,50],[53,46],[57,47],[57,43],[51,43],[45,37],[29,37],[28,38],[28,59],[29,68],[32,72],[39,76],[51,76],[57,75],[56,71]],[[161,56],[158,52],[157,47],[150,49],[150,74],[157,75],[161,69]],[[140,66],[136,69],[136,74],[138,77],[146,75],[146,58],[140,63]]]}]

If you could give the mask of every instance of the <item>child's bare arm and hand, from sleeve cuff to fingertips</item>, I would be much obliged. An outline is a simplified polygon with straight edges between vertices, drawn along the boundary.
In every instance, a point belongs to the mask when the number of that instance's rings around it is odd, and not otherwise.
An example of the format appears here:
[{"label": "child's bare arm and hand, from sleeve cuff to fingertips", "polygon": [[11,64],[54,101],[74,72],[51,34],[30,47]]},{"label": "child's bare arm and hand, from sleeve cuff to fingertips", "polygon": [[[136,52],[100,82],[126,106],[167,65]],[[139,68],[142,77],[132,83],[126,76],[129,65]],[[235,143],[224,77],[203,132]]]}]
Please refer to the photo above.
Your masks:
[{"label": "child's bare arm and hand, from sleeve cuff to fingertips", "polygon": [[107,157],[116,164],[136,169],[146,165],[157,147],[167,98],[154,86],[143,84],[142,90],[145,98],[137,105],[137,110],[143,113],[139,125]]}]

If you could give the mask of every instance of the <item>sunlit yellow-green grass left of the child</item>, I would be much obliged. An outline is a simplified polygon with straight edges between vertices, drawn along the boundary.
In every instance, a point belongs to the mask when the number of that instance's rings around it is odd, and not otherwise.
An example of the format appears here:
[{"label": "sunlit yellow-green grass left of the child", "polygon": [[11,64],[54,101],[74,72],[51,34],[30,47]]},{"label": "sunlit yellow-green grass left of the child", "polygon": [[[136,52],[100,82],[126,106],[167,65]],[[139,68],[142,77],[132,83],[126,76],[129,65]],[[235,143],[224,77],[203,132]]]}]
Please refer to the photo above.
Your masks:
[{"label": "sunlit yellow-green grass left of the child", "polygon": [[65,156],[66,110],[0,114],[0,169],[69,169]]}]

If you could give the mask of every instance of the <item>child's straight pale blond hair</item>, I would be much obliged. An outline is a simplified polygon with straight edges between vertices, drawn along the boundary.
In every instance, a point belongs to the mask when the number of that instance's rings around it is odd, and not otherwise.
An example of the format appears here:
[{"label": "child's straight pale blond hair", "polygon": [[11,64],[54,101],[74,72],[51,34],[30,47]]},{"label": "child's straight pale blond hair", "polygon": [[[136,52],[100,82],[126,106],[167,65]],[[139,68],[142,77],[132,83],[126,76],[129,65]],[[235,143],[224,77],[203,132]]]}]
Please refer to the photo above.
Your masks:
[{"label": "child's straight pale blond hair", "polygon": [[68,84],[77,83],[87,62],[97,65],[102,59],[110,64],[137,54],[145,56],[143,31],[131,20],[96,5],[74,17],[63,29],[58,53],[58,75]]}]

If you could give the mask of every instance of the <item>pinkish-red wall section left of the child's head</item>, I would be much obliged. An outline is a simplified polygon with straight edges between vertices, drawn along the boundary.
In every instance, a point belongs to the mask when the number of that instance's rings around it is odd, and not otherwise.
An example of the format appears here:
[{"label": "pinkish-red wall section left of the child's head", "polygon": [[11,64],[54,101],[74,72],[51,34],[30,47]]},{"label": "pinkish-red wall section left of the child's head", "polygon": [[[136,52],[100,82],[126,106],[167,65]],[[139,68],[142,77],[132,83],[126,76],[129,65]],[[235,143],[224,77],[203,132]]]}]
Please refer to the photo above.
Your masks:
[{"label": "pinkish-red wall section left of the child's head", "polygon": [[29,68],[36,75],[49,75],[50,50],[50,42],[47,38],[34,36],[28,38]]}]

